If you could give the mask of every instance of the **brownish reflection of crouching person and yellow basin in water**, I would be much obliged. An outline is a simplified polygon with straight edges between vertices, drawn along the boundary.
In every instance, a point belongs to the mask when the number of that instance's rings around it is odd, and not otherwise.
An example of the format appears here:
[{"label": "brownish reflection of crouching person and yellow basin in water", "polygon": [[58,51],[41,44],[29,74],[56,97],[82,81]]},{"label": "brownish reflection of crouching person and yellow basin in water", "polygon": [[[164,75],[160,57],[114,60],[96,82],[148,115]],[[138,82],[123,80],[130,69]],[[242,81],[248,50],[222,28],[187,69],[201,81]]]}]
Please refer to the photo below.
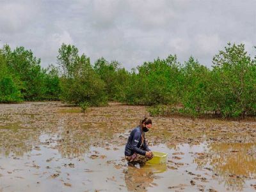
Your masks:
[{"label": "brownish reflection of crouching person and yellow basin in water", "polygon": [[125,170],[125,184],[128,191],[147,191],[148,187],[154,186],[156,173],[166,171],[164,165],[145,165],[141,168],[136,166],[127,166]]}]

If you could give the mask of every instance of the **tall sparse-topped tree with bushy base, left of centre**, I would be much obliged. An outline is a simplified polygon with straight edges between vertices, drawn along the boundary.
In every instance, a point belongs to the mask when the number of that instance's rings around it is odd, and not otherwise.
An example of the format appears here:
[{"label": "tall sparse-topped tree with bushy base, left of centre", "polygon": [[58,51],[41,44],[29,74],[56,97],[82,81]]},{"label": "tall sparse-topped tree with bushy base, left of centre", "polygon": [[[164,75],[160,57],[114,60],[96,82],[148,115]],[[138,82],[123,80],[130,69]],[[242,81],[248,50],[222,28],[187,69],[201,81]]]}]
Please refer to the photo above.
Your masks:
[{"label": "tall sparse-topped tree with bushy base, left of centre", "polygon": [[90,58],[78,55],[77,48],[61,45],[58,55],[61,77],[61,101],[72,105],[90,103],[90,106],[106,105],[105,84],[95,73]]}]

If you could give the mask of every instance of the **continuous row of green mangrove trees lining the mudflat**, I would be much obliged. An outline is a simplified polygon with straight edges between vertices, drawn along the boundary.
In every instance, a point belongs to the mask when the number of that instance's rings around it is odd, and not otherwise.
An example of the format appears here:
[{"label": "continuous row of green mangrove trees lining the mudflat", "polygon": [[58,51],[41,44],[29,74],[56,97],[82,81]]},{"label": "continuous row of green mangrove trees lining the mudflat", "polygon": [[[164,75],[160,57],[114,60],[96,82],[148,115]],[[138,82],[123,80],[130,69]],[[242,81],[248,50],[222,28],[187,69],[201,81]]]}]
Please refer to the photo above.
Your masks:
[{"label": "continuous row of green mangrove trees lining the mudflat", "polygon": [[61,45],[58,66],[42,68],[31,50],[0,48],[0,103],[60,100],[82,108],[120,101],[152,106],[152,115],[256,115],[256,56],[228,43],[212,68],[193,57],[154,59],[132,71],[103,57],[90,63],[74,45]]}]

